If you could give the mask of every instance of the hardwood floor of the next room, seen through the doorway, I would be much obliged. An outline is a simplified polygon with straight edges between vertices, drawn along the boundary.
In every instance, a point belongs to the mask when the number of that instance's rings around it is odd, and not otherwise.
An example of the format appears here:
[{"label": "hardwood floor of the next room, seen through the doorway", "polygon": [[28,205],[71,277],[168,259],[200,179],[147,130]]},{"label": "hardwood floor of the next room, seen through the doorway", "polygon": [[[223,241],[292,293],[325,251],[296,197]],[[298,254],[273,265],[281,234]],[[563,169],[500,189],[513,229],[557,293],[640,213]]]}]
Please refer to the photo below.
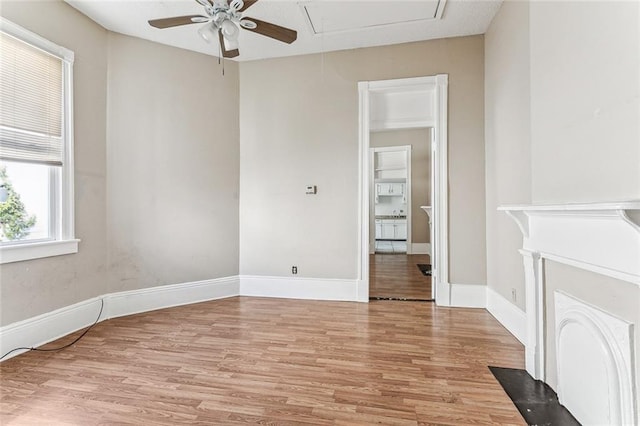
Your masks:
[{"label": "hardwood floor of the next room, seen through the doorway", "polygon": [[418,263],[430,263],[426,254],[370,254],[369,297],[431,300],[431,277]]}]

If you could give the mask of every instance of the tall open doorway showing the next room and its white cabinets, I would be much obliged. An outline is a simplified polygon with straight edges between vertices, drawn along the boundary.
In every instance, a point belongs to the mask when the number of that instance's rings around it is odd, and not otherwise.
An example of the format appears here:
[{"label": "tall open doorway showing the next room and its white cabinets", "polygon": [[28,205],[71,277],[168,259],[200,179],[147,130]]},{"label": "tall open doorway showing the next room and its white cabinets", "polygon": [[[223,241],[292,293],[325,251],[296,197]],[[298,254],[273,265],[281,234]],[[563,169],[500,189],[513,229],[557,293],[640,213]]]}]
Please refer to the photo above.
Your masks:
[{"label": "tall open doorway showing the next room and its white cabinets", "polygon": [[369,194],[370,300],[433,300],[431,129],[372,131]]}]

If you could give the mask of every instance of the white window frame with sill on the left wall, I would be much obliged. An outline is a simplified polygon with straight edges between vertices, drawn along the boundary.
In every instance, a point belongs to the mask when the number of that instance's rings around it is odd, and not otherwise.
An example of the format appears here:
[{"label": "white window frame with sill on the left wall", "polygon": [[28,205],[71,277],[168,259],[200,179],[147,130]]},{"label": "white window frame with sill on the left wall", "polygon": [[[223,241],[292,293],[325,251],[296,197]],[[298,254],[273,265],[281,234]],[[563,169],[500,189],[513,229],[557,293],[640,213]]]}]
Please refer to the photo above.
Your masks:
[{"label": "white window frame with sill on the left wall", "polygon": [[[62,60],[63,63],[63,100],[64,122],[63,165],[56,171],[55,190],[50,195],[55,200],[55,211],[51,214],[52,240],[16,241],[0,246],[0,264],[20,262],[23,260],[60,256],[78,252],[80,240],[75,238],[74,218],[74,165],[73,165],[73,62],[74,53],[64,47],[0,17],[0,29],[11,36],[24,41],[38,49],[48,52]],[[53,172],[53,173],[56,173]]]}]

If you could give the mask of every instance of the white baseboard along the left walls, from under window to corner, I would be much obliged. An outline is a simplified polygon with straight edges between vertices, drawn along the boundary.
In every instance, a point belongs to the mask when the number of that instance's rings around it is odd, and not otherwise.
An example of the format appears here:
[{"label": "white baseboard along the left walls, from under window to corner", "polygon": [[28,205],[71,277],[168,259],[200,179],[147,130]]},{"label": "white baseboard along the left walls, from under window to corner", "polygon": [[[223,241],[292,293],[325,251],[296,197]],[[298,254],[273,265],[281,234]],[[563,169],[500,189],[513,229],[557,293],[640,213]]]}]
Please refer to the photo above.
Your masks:
[{"label": "white baseboard along the left walls, from under window to corner", "polygon": [[[238,296],[237,276],[105,294],[0,328],[0,356],[18,347],[34,348],[105,319]],[[25,351],[16,351],[7,360]]]}]

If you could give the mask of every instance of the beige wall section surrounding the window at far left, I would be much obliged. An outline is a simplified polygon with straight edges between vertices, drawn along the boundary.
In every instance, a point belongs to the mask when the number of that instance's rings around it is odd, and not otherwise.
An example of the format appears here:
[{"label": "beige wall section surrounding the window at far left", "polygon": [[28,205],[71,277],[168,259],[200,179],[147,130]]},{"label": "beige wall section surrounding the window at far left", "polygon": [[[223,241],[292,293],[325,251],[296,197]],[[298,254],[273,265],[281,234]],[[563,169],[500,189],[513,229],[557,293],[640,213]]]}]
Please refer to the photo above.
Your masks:
[{"label": "beige wall section surrounding the window at far left", "polygon": [[75,216],[79,253],[0,267],[0,325],[107,292],[107,31],[62,1],[2,1],[10,21],[75,52]]}]

